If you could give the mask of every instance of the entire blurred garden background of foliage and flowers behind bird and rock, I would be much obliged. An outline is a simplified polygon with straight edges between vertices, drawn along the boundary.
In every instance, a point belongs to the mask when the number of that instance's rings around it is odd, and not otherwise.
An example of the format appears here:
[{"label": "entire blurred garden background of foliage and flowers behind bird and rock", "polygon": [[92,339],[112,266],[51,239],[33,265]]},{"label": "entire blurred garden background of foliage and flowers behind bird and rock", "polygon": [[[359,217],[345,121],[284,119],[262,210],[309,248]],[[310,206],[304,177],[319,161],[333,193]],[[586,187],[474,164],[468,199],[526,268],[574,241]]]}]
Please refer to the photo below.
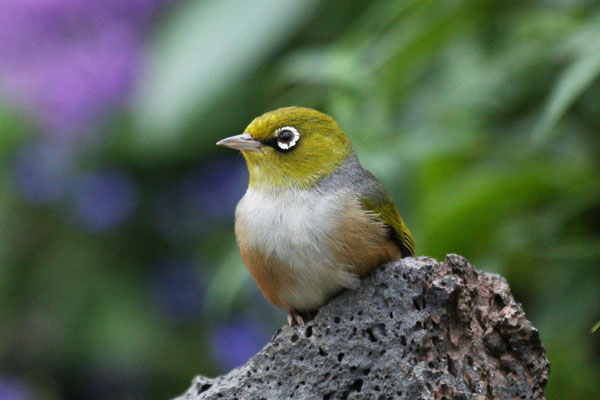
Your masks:
[{"label": "entire blurred garden background of foliage and flowers behind bird and rock", "polygon": [[166,399],[285,321],[242,266],[253,117],[331,114],[417,254],[505,276],[600,392],[594,0],[0,1],[0,399]]}]

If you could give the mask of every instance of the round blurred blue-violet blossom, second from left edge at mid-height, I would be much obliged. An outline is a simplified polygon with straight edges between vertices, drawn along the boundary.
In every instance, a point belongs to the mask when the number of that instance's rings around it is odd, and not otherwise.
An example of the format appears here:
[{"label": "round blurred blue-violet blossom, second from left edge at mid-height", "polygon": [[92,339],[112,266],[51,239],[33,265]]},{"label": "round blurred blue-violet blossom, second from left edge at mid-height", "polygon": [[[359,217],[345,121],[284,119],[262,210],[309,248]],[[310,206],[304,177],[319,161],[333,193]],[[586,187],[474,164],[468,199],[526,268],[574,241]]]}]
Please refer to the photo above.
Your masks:
[{"label": "round blurred blue-violet blossom, second from left edge at mid-height", "polygon": [[90,231],[104,231],[127,219],[136,206],[133,180],[119,172],[80,176],[74,187],[75,216]]}]

